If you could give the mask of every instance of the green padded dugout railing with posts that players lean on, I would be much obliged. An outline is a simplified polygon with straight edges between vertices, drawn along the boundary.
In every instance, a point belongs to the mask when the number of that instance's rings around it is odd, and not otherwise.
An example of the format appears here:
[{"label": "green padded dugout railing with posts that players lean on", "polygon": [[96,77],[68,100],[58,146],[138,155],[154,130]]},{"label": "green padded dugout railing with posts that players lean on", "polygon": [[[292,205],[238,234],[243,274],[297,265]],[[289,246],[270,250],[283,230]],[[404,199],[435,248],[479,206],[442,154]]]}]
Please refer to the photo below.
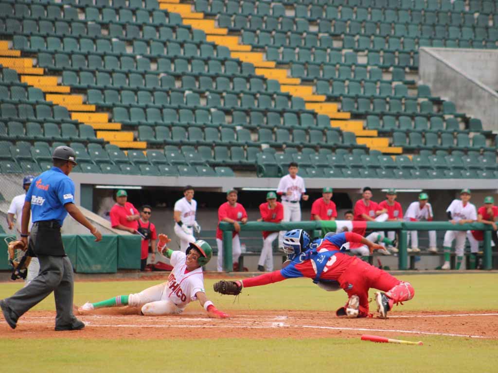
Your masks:
[{"label": "green padded dugout railing with posts that players lean on", "polygon": [[[327,232],[336,232],[338,221],[300,221],[300,222],[282,222],[266,223],[248,221],[241,224],[242,232],[249,231],[287,231],[291,229],[304,229],[313,232],[312,236],[320,235],[323,237]],[[232,232],[234,225],[227,222],[220,223],[220,229],[223,231],[223,269],[227,272],[232,271]],[[483,266],[485,270],[491,270],[493,267],[492,250],[491,250],[491,231],[492,227],[483,223],[452,224],[448,221],[369,221],[367,230],[396,231],[398,233],[398,268],[399,270],[408,269],[408,251],[407,238],[409,231],[467,231],[482,230],[484,231],[484,258]]]}]

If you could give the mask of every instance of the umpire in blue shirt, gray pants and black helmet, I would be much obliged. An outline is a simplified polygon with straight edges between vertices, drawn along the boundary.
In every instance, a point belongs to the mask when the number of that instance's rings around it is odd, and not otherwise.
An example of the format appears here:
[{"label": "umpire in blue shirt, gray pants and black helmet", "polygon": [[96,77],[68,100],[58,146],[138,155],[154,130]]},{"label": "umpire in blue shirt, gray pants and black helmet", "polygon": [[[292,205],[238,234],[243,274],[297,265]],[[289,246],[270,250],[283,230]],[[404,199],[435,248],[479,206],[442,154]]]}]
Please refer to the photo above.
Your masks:
[{"label": "umpire in blue shirt, gray pants and black helmet", "polygon": [[[77,164],[74,150],[59,146],[53,151],[52,160],[54,167],[33,180],[22,207],[20,247],[38,257],[40,272],[26,287],[0,300],[5,321],[12,329],[15,329],[20,316],[52,291],[57,311],[55,330],[80,330],[85,327],[73,314],[73,267],[64,252],[60,229],[69,212],[90,230],[95,241],[100,241],[102,234],[74,204],[74,183],[68,177]],[[28,235],[31,213],[33,226]]]}]

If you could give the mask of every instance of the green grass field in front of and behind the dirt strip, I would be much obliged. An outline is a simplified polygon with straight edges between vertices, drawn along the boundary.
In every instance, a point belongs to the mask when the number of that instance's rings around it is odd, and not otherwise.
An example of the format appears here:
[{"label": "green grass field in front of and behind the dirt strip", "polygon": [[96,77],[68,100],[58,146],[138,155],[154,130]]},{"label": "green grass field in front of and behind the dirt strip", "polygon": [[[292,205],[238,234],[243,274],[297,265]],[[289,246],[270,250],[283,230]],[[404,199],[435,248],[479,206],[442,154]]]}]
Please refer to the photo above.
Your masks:
[{"label": "green grass field in front of and behind the dirt strip", "polygon": [[[415,298],[402,311],[498,310],[497,274],[402,276],[415,288]],[[98,301],[140,291],[159,281],[77,282],[75,303]],[[208,296],[230,310],[334,311],[346,300],[343,291],[326,292],[311,280],[287,280],[247,288],[240,299]],[[21,286],[1,283],[0,298]],[[35,309],[54,310],[53,297]],[[198,304],[191,309],[200,310]],[[21,319],[22,320],[22,319]],[[498,318],[497,318],[498,321]],[[4,323],[0,328],[7,328]],[[81,332],[82,334],[84,332]],[[15,332],[9,333],[15,336]],[[194,339],[87,340],[0,338],[0,356],[17,362],[18,372],[492,372],[498,366],[497,339],[400,335],[424,346],[374,344],[358,338],[323,339]],[[5,364],[5,363],[4,363]],[[13,363],[8,363],[10,366]],[[12,369],[14,367],[12,366]]]}]

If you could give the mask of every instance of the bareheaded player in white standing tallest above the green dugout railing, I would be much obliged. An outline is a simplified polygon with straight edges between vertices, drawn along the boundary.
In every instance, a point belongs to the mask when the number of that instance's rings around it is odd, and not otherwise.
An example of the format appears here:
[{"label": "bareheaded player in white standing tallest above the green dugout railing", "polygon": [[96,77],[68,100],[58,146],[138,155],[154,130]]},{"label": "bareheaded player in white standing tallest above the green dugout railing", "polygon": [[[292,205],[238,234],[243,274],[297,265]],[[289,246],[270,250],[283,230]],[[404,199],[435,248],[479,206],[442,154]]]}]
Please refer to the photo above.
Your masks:
[{"label": "bareheaded player in white standing tallest above the green dugout railing", "polygon": [[[301,198],[307,201],[309,196],[306,193],[304,180],[297,175],[297,163],[292,162],[289,165],[289,174],[283,176],[278,182],[277,194],[282,197],[283,220],[282,221],[301,221]],[[279,247],[282,247],[282,240],[285,231],[280,231],[278,235]]]}]

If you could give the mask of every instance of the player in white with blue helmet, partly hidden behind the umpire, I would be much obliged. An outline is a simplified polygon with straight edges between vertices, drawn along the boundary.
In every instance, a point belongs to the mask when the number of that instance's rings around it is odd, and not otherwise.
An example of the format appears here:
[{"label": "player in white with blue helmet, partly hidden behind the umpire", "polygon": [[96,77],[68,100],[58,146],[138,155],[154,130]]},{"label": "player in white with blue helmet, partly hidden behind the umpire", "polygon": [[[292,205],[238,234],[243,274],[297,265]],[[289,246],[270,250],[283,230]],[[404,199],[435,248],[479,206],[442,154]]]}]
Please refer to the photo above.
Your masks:
[{"label": "player in white with blue helmet, partly hidden behind the umpire", "polygon": [[[16,195],[12,198],[10,202],[10,206],[7,211],[7,224],[8,229],[15,229],[15,237],[19,240],[21,237],[21,219],[22,219],[22,206],[24,206],[24,199],[26,198],[26,192],[33,181],[34,176],[28,175],[24,177],[22,180],[22,188],[24,189],[24,194]],[[15,223],[14,223],[15,217]],[[31,217],[29,218],[28,223],[28,231],[31,231],[31,226],[33,225],[31,221]],[[29,262],[28,273],[26,275],[25,285],[26,286],[31,280],[33,280],[36,276],[38,276],[38,272],[40,272],[40,262],[38,262],[38,258],[31,258],[31,262]]]}]

